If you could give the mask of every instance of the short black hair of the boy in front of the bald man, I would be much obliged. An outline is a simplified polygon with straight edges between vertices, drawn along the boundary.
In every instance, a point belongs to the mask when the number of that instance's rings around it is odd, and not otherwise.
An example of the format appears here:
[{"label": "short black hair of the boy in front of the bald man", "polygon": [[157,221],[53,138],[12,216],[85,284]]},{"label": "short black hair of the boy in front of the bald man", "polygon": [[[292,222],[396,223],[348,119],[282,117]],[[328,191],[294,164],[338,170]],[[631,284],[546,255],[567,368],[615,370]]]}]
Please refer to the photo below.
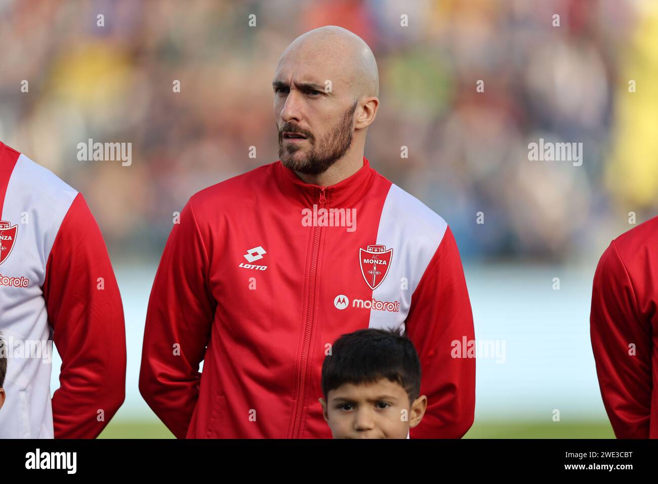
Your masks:
[{"label": "short black hair of the boy in front of the bald man", "polygon": [[403,329],[359,329],[342,335],[322,363],[324,400],[343,383],[374,383],[382,378],[403,387],[410,403],[420,396],[420,360]]}]

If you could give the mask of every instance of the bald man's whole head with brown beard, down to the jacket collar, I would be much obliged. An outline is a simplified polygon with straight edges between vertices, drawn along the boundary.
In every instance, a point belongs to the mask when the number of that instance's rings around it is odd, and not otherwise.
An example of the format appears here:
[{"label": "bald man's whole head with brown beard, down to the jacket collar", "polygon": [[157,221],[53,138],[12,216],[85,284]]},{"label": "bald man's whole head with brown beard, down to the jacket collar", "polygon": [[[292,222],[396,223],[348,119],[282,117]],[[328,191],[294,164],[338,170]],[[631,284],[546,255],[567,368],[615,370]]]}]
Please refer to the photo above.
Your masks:
[{"label": "bald man's whole head with brown beard, down to the jacket collar", "polygon": [[284,166],[316,184],[363,166],[379,105],[377,63],[363,39],[336,26],[299,36],[281,55],[272,88]]}]

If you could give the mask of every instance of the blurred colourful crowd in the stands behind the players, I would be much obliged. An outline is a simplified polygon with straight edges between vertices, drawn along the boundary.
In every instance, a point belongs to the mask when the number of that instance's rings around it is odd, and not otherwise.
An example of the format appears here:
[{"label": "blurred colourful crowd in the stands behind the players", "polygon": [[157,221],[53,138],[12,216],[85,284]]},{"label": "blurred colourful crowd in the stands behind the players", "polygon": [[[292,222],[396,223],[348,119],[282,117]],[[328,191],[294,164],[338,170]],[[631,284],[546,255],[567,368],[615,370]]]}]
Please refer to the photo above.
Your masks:
[{"label": "blurred colourful crowd in the stands behind the players", "polygon": [[[278,58],[335,24],[378,62],[366,157],[465,259],[597,256],[658,208],[657,4],[0,0],[0,140],[84,194],[113,261],[157,261],[191,194],[276,161]],[[88,138],[131,142],[132,165],[78,161]],[[529,161],[539,138],[582,142],[582,166]]]}]

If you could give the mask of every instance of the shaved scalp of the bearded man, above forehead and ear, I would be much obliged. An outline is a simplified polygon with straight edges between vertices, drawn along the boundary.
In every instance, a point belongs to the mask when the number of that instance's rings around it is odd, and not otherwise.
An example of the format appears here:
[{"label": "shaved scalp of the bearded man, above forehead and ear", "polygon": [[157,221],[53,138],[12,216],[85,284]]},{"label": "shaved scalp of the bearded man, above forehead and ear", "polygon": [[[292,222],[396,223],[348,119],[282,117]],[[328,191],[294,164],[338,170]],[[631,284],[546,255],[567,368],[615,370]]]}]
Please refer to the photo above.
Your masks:
[{"label": "shaved scalp of the bearded man, above forehead and ear", "polygon": [[[349,90],[352,99],[379,95],[379,73],[372,51],[349,30],[327,25],[297,37],[279,59],[288,65],[304,65],[332,89]],[[347,93],[345,93],[347,94]]]}]

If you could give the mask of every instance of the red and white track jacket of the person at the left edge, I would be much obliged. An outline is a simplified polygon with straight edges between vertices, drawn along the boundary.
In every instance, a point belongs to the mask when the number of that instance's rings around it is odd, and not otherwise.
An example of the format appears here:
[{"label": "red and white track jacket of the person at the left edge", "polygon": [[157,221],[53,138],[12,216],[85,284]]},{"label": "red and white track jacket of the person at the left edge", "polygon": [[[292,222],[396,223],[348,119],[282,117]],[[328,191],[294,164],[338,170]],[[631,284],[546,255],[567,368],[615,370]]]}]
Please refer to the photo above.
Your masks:
[{"label": "red and white track jacket of the person at the left edge", "polygon": [[[97,437],[124,401],[125,331],[84,198],[0,142],[0,332],[9,352],[0,438]],[[62,367],[51,399],[53,341]]]}]

